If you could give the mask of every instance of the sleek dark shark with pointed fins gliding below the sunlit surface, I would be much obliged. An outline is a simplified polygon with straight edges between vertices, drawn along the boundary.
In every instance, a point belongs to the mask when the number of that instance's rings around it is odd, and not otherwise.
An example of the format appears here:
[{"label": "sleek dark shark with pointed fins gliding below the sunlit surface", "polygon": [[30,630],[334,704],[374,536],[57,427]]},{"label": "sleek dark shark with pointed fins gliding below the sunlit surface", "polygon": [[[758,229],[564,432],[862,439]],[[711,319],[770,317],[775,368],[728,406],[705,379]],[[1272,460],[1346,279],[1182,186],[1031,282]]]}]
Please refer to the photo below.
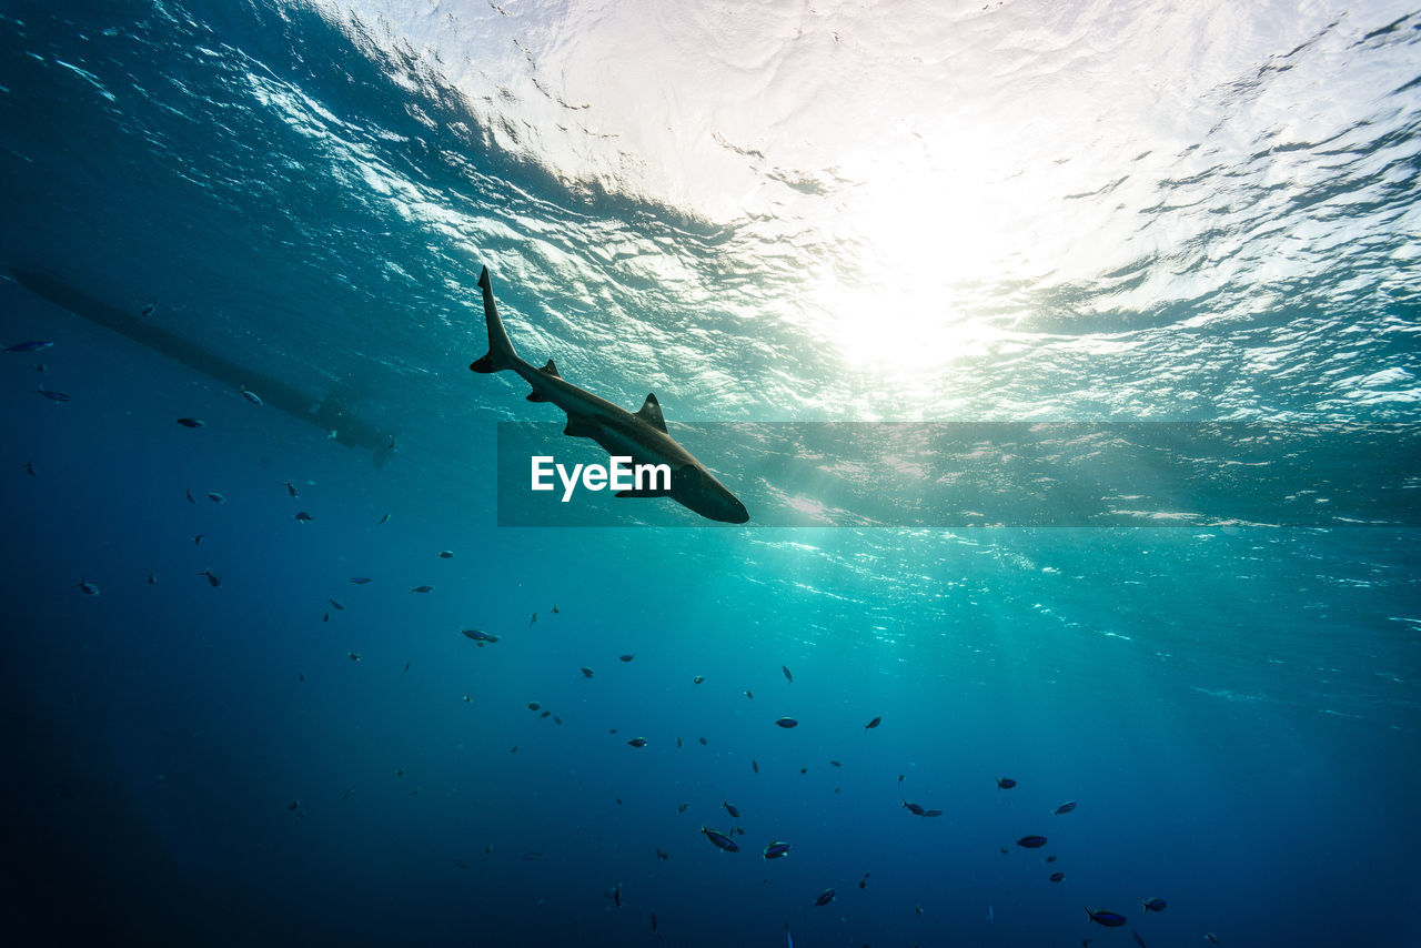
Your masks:
[{"label": "sleek dark shark with pointed fins gliding below the sunlit surface", "polygon": [[513,371],[533,387],[530,402],[551,402],[567,412],[564,435],[591,438],[611,456],[628,456],[637,465],[666,465],[669,489],[618,490],[618,497],[671,497],[681,506],[720,523],[746,523],[745,505],[703,463],[666,432],[666,419],[655,392],[647,395],[641,409],[625,408],[573,385],[557,372],[553,360],[537,368],[519,357],[493,300],[489,267],[479,273],[483,290],[483,318],[489,327],[489,352],[469,365],[470,371],[490,374]]}]

